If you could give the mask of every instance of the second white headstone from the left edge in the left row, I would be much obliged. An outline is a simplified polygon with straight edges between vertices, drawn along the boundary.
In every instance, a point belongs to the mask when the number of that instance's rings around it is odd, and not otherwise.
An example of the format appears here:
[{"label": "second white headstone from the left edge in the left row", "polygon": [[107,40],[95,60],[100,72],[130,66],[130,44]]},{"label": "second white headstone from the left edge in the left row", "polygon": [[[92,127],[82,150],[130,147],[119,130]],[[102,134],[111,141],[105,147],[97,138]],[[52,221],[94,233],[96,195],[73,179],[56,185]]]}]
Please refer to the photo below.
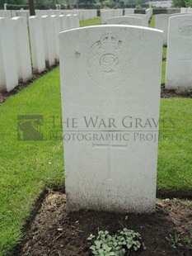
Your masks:
[{"label": "second white headstone from the left edge in the left row", "polygon": [[26,24],[25,17],[12,18],[18,78],[23,82],[32,78],[30,45]]}]

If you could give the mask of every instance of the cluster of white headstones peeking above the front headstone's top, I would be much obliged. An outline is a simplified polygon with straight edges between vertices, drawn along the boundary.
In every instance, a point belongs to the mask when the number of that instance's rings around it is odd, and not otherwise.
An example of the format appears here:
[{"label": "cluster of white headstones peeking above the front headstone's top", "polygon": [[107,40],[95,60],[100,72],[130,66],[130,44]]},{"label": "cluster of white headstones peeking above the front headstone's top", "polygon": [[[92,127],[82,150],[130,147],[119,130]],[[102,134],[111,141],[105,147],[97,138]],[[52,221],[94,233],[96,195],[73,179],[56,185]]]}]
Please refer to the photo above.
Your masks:
[{"label": "cluster of white headstones peeking above the front headstone's top", "polygon": [[[124,24],[124,25],[134,25],[134,26],[148,26],[148,21],[152,17],[152,8],[146,10],[146,14],[134,13],[134,9],[125,9],[126,12],[123,16],[115,15],[115,10],[107,10],[101,12],[101,24]],[[129,10],[129,12],[127,11]],[[127,19],[126,17],[129,17]],[[130,18],[133,17],[133,18]],[[135,18],[135,19],[134,19]],[[138,18],[138,19],[137,19]],[[115,23],[114,23],[115,22]]]}]

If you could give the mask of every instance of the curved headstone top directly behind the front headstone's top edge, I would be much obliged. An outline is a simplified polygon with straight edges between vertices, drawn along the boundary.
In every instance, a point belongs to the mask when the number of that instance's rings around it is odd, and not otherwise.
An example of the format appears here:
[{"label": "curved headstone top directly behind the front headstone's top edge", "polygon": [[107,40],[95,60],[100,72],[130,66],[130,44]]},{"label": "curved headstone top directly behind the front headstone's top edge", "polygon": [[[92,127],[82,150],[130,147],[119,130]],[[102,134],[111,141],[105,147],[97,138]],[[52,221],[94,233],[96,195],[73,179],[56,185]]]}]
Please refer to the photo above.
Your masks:
[{"label": "curved headstone top directly behind the front headstone's top edge", "polygon": [[142,18],[138,17],[112,17],[106,20],[106,24],[142,26]]}]

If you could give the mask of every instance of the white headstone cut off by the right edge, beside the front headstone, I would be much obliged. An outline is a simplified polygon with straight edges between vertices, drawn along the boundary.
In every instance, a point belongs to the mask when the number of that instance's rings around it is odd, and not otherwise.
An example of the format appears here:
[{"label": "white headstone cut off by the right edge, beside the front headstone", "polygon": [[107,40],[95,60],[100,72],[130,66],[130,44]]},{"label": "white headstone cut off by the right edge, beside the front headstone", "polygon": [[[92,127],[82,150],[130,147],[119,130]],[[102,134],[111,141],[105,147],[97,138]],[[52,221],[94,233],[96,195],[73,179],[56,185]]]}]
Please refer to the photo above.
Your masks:
[{"label": "white headstone cut off by the right edge, beside the front headstone", "polygon": [[192,88],[192,15],[170,17],[166,55],[166,88]]}]

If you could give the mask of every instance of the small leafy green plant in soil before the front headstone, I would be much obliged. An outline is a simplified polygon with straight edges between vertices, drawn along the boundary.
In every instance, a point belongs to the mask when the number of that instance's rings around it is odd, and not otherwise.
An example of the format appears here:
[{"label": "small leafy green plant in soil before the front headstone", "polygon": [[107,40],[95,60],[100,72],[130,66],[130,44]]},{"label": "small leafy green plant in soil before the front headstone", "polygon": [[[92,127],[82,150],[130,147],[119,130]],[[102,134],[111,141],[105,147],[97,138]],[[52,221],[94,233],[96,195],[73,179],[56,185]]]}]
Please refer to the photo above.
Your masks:
[{"label": "small leafy green plant in soil before the front headstone", "polygon": [[141,248],[141,235],[133,230],[118,231],[115,235],[110,235],[106,231],[99,231],[98,235],[90,235],[91,253],[97,256],[124,256],[131,250],[137,251]]}]

